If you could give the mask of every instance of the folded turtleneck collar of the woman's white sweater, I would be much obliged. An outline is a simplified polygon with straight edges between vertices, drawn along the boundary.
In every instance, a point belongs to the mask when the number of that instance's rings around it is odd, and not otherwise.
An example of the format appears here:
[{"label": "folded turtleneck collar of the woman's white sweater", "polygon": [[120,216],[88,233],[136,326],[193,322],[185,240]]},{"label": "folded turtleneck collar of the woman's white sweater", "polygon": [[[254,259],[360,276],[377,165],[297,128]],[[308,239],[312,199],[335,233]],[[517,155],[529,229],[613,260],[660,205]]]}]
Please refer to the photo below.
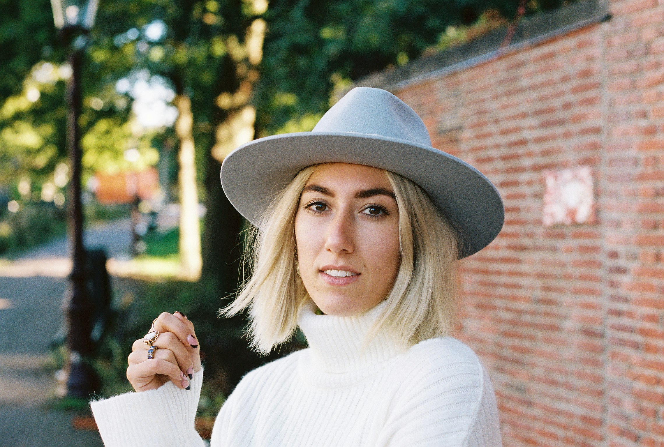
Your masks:
[{"label": "folded turtleneck collar of the woman's white sweater", "polygon": [[316,304],[307,298],[297,318],[309,344],[305,369],[319,376],[364,375],[378,363],[398,355],[398,349],[384,330],[369,342],[365,350],[361,350],[365,335],[386,305],[387,301],[382,300],[373,308],[353,316],[318,315],[315,313]]}]

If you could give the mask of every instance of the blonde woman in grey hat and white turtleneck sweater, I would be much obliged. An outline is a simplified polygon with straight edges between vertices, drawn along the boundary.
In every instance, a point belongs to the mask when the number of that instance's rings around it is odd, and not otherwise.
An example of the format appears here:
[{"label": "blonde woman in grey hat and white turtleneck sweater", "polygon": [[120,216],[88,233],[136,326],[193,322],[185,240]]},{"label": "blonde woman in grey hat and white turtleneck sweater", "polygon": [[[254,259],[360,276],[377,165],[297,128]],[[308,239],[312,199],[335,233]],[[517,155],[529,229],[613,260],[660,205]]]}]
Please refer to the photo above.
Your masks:
[{"label": "blonde woman in grey hat and white turtleneck sweater", "polygon": [[[236,149],[221,179],[254,224],[252,277],[222,314],[248,308],[262,353],[297,326],[309,347],[242,378],[211,447],[502,445],[487,371],[450,336],[457,260],[503,225],[483,174],[432,148],[398,97],[358,87],[313,131]],[[90,403],[104,444],[205,445],[193,324],[163,312],[145,338],[129,355],[137,392]]]}]

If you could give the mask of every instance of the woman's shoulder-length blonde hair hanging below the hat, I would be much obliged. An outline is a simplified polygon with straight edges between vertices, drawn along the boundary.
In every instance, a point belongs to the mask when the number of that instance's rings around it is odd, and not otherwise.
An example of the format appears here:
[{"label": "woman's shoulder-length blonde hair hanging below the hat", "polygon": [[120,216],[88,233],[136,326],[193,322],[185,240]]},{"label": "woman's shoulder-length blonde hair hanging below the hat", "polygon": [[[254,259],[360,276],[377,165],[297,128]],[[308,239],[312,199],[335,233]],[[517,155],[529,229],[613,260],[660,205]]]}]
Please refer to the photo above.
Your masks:
[{"label": "woman's shoulder-length blonde hair hanging below the hat", "polygon": [[[258,226],[248,227],[244,265],[251,276],[220,316],[249,308],[252,349],[268,354],[297,329],[301,304],[311,299],[295,258],[295,214],[301,192],[320,164],[300,170],[272,200]],[[387,305],[364,340],[386,330],[400,350],[454,330],[457,314],[459,232],[412,180],[384,170],[399,210],[400,266]],[[261,230],[260,228],[264,230]]]}]

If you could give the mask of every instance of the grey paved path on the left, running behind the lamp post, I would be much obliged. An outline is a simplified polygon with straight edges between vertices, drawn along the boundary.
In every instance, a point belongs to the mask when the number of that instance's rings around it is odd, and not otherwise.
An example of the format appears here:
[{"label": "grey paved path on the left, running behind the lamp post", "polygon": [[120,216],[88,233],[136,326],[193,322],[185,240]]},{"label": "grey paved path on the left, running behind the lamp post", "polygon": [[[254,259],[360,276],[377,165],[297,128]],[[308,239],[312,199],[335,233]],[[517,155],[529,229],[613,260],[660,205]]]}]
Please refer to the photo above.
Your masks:
[{"label": "grey paved path on the left, running behind the lamp post", "polygon": [[[131,243],[129,221],[86,229],[87,247],[103,245],[121,257]],[[60,328],[60,308],[71,269],[66,238],[0,262],[0,447],[102,447],[97,432],[74,430],[71,415],[44,408],[56,379],[44,367],[50,338]],[[114,292],[129,283],[112,278]]]}]

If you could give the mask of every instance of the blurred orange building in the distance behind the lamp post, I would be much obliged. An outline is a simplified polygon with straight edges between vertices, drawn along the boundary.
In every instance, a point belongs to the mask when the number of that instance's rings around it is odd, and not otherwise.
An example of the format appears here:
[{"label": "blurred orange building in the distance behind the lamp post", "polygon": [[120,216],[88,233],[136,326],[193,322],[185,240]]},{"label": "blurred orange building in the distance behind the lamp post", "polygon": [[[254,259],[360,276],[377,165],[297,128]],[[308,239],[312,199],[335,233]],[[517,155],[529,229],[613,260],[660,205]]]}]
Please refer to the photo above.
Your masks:
[{"label": "blurred orange building in the distance behind the lamp post", "polygon": [[97,200],[102,204],[126,204],[135,195],[141,200],[150,200],[159,190],[159,173],[154,167],[142,171],[125,171],[118,174],[96,172]]}]

